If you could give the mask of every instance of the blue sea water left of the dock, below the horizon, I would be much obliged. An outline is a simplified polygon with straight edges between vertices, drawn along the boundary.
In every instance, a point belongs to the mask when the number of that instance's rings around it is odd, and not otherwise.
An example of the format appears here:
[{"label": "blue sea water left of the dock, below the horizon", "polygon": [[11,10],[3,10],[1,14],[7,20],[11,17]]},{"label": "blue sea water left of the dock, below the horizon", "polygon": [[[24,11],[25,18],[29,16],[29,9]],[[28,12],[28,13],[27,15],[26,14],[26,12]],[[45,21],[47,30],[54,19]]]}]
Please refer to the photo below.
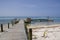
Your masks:
[{"label": "blue sea water left of the dock, below the horizon", "polygon": [[14,16],[12,16],[12,17],[9,17],[9,16],[8,17],[0,17],[0,24],[11,23],[11,21],[16,19],[16,18],[25,19],[26,17],[14,17]]}]

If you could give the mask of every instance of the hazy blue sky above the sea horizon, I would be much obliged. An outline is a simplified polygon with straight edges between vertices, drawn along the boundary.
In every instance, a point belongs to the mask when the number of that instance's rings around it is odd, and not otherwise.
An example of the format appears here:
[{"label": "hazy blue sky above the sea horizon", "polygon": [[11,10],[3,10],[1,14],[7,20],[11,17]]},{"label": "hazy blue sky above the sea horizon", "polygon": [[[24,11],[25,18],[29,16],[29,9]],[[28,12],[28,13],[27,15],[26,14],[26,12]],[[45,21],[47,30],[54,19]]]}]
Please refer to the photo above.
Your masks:
[{"label": "hazy blue sky above the sea horizon", "polygon": [[0,0],[0,16],[60,17],[60,0]]}]

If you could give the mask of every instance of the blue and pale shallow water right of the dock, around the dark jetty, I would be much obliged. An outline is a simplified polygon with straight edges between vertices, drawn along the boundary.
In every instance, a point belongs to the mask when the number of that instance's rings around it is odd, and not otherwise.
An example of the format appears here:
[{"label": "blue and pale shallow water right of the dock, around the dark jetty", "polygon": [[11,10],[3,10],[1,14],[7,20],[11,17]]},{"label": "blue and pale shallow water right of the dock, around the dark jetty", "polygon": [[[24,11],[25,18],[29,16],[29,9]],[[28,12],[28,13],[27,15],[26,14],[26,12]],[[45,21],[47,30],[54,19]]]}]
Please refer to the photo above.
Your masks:
[{"label": "blue and pale shallow water right of the dock, around the dark jetty", "polygon": [[[34,17],[34,19],[48,19],[48,17]],[[43,25],[53,25],[60,24],[60,17],[50,17],[49,19],[54,20],[53,22],[40,22],[40,21],[32,21],[31,24],[43,24]]]}]

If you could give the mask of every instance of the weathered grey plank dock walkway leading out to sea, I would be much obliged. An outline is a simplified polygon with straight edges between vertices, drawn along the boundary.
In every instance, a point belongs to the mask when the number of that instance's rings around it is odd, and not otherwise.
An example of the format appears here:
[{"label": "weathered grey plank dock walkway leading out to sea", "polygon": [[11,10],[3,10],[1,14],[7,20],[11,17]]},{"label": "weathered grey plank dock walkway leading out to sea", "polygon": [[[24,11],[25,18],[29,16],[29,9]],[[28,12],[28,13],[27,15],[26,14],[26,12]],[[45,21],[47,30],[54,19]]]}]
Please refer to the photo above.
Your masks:
[{"label": "weathered grey plank dock walkway leading out to sea", "polygon": [[0,32],[0,40],[27,40],[23,20],[5,32]]}]

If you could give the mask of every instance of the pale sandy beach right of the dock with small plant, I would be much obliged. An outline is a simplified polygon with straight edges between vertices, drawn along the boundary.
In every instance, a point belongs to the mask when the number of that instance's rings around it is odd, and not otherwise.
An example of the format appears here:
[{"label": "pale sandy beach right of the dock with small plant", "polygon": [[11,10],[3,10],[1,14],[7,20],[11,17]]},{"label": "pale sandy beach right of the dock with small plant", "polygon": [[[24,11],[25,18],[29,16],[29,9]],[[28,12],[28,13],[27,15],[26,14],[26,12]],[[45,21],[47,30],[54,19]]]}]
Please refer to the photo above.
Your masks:
[{"label": "pale sandy beach right of the dock with small plant", "polygon": [[[60,24],[53,25],[28,25],[32,28],[33,40],[60,40]],[[29,30],[28,30],[29,31]]]}]

